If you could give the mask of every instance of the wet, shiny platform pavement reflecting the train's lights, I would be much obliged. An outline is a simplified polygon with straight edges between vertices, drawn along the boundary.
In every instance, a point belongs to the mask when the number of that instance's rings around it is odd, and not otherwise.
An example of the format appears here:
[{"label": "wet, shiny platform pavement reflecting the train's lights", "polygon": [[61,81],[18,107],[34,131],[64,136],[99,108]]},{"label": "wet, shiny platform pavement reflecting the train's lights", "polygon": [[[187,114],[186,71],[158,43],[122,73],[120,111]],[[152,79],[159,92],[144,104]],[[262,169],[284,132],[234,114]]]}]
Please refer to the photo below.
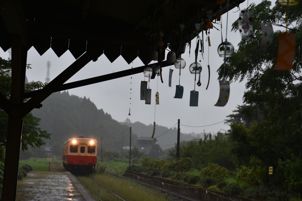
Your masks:
[{"label": "wet, shiny platform pavement reflecting the train's lights", "polygon": [[18,181],[17,200],[95,201],[70,172],[31,171]]}]

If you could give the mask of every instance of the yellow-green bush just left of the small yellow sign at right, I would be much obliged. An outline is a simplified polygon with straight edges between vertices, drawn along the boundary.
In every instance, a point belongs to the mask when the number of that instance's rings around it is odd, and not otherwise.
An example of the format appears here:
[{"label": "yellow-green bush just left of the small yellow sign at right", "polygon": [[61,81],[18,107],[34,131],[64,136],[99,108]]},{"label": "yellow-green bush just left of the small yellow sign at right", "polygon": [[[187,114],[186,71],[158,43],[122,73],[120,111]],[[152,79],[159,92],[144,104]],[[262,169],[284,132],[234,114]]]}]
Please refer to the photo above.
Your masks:
[{"label": "yellow-green bush just left of the small yellow sign at right", "polygon": [[241,169],[237,169],[238,173],[236,180],[244,182],[250,186],[263,186],[263,175],[268,168],[254,168],[242,166]]}]

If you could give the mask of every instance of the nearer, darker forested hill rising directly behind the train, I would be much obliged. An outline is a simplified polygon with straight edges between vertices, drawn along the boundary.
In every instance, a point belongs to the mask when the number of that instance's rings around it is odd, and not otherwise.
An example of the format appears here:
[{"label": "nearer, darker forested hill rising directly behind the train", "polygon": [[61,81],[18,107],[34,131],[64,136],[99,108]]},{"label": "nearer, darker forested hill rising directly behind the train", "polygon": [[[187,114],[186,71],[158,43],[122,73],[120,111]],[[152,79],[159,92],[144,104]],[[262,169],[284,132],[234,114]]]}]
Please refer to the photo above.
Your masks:
[{"label": "nearer, darker forested hill rising directly behind the train", "polygon": [[[40,127],[51,133],[48,144],[63,143],[72,137],[83,136],[94,138],[101,143],[103,148],[121,149],[123,130],[129,127],[121,125],[111,118],[111,115],[98,109],[90,99],[69,95],[67,92],[53,93],[42,102],[43,107],[34,109],[33,115],[40,118]],[[137,136],[132,135],[132,141]],[[124,139],[124,146],[129,145],[129,138]]]}]

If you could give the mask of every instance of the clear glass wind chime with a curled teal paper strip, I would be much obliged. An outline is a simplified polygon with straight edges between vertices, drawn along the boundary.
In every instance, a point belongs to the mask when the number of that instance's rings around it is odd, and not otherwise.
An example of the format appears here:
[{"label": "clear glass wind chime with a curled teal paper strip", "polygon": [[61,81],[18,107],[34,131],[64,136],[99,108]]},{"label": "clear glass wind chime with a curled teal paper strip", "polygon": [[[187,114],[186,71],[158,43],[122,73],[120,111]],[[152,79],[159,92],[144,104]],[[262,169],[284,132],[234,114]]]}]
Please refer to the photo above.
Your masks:
[{"label": "clear glass wind chime with a curled teal paper strip", "polygon": [[[183,30],[185,28],[185,25],[182,23],[179,25],[180,29]],[[184,87],[180,86],[180,72],[183,68],[186,66],[186,61],[182,58],[182,34],[180,39],[180,55],[174,62],[175,68],[179,69],[179,83],[176,85],[176,91],[175,91],[175,99],[182,99],[182,95],[184,93]]]}]

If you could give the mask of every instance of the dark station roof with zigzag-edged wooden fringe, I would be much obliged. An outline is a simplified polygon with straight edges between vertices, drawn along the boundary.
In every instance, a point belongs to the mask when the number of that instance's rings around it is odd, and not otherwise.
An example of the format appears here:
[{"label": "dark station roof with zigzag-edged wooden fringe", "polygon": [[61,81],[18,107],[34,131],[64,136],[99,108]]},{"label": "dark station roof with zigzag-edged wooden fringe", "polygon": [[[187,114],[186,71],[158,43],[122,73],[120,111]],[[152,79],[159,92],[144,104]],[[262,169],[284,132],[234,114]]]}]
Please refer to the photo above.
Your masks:
[{"label": "dark station roof with zigzag-edged wooden fringe", "polygon": [[[7,5],[5,2],[7,1]],[[230,0],[229,10],[244,0]],[[222,14],[227,4],[222,4]],[[113,62],[122,57],[131,63],[137,56],[150,62],[150,49],[159,49],[159,33],[166,49],[191,41],[204,21],[216,19],[216,0],[3,0],[0,7],[0,47],[11,47],[11,36],[21,35],[22,46],[40,55],[52,49],[58,57],[69,50],[74,58],[97,46]],[[179,24],[183,23],[182,31]],[[200,23],[200,30],[195,30]],[[215,26],[215,24],[214,24]],[[164,60],[164,56],[161,58]]]}]

